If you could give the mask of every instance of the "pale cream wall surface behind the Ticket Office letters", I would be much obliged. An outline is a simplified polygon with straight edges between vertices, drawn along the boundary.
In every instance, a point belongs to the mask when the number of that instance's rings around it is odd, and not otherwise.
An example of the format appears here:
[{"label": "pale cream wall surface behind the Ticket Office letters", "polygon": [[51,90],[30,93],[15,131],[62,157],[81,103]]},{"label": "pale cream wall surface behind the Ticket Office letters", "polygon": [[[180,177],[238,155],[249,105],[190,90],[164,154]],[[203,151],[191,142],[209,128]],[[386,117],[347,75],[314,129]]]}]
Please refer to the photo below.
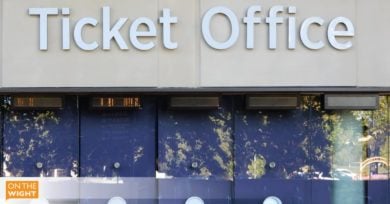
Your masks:
[{"label": "pale cream wall surface behind the Ticket Office letters", "polygon": [[[390,86],[390,1],[388,0],[0,0],[3,35],[0,41],[2,87],[278,87],[278,86]],[[245,48],[246,27],[242,18],[251,5],[261,5],[257,14],[255,48]],[[264,18],[274,5],[296,6],[297,23],[311,16],[325,20],[313,27],[313,39],[325,47],[309,50],[299,38],[295,50],[287,49],[286,20],[278,26],[278,47],[267,48],[268,25]],[[102,6],[111,7],[111,21],[128,17],[122,36],[129,50],[98,48],[83,51],[72,41],[71,50],[61,50],[60,17],[49,18],[48,51],[39,50],[38,18],[28,15],[33,7],[69,7],[72,25],[83,17],[101,21]],[[238,42],[230,49],[210,48],[201,35],[201,18],[213,6],[231,8],[240,21]],[[163,8],[170,8],[179,22],[172,26],[178,49],[162,45],[157,24]],[[1,7],[0,7],[1,9]],[[286,12],[279,14],[288,17]],[[128,39],[130,23],[148,17],[157,26],[156,47],[139,51]],[[326,40],[326,27],[337,16],[349,18],[355,26],[353,47],[340,51]],[[101,22],[86,29],[86,39],[101,42]],[[213,34],[226,39],[230,26],[221,16],[213,20]],[[299,30],[299,29],[298,29]],[[299,37],[299,35],[297,35]],[[348,40],[348,39],[347,39]],[[1,52],[2,51],[2,52]]]}]

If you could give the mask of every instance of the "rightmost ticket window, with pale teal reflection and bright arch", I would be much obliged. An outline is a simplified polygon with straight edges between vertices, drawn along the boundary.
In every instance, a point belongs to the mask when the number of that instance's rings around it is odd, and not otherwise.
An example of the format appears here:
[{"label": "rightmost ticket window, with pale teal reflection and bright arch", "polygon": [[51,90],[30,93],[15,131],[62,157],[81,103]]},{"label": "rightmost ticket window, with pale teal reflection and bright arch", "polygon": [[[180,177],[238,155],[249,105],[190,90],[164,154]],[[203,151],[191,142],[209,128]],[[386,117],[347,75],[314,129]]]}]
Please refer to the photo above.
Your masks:
[{"label": "rightmost ticket window, with pale teal reflection and bright arch", "polygon": [[333,203],[388,203],[389,97],[379,97],[373,110],[328,110],[322,127]]}]

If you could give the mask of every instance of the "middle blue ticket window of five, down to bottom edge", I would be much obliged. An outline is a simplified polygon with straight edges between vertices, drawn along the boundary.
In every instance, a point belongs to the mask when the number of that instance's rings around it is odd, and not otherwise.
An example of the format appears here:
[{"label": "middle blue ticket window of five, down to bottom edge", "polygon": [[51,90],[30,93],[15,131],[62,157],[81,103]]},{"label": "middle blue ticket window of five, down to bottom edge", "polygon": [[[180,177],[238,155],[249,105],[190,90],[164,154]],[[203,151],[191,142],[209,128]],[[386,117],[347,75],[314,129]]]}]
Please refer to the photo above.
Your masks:
[{"label": "middle blue ticket window of five, down to bottom edge", "polygon": [[201,100],[191,98],[197,101],[193,107],[179,109],[169,107],[169,99],[159,104],[159,203],[231,203],[232,98],[221,97],[219,107],[208,108],[199,107]]}]

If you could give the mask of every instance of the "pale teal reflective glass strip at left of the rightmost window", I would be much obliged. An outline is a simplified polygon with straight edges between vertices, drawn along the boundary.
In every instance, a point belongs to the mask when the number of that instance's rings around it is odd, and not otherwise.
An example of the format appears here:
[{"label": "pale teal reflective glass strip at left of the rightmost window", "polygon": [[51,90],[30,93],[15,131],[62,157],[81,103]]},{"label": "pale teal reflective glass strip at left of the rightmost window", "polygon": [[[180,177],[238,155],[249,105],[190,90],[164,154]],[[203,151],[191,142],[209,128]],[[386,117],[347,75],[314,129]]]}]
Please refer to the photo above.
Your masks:
[{"label": "pale teal reflective glass strip at left of the rightmost window", "polygon": [[[371,114],[370,111],[361,111]],[[364,203],[363,175],[359,174],[360,161],[367,155],[369,121],[354,111],[328,111],[323,114],[323,131],[328,141],[326,158],[329,175],[335,181],[332,203]]]}]

